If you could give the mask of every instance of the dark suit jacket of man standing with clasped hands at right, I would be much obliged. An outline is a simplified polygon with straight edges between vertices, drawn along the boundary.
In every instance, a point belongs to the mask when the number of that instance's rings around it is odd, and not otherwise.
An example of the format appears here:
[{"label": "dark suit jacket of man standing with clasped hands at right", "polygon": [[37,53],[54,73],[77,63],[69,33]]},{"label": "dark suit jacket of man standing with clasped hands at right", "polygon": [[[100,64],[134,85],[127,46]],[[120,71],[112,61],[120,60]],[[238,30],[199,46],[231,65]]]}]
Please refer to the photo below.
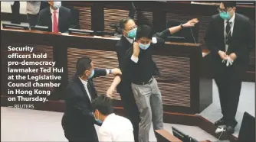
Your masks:
[{"label": "dark suit jacket of man standing with clasped hands at right", "polygon": [[250,50],[255,47],[249,18],[235,13],[235,24],[227,54],[235,53],[238,58],[230,67],[226,67],[218,56],[218,50],[225,51],[224,29],[224,20],[219,15],[213,15],[205,34],[205,44],[211,50],[215,75],[222,74],[225,69],[231,69],[231,73],[240,78],[248,67]]}]

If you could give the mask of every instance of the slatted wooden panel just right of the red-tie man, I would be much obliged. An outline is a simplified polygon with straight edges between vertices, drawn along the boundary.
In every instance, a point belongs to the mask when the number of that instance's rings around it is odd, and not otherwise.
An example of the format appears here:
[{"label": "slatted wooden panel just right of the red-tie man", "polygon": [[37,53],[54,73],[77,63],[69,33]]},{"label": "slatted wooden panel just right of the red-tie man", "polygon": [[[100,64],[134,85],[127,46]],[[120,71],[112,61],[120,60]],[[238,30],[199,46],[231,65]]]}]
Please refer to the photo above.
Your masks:
[{"label": "slatted wooden panel just right of the red-tie man", "polygon": [[90,7],[74,6],[79,11],[79,25],[82,30],[91,30]]}]

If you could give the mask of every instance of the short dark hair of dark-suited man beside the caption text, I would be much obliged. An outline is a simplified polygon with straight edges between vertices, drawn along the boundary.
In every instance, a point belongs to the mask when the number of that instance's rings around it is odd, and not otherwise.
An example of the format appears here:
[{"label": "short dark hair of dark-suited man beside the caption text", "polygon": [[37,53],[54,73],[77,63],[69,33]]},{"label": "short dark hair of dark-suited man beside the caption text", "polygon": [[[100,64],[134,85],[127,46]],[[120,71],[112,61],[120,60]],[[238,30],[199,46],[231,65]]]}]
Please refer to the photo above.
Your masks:
[{"label": "short dark hair of dark-suited man beside the caption text", "polygon": [[77,75],[78,76],[83,76],[84,75],[84,71],[90,69],[90,67],[91,67],[90,63],[91,63],[91,60],[87,56],[78,59],[77,60],[77,65],[76,65]]}]

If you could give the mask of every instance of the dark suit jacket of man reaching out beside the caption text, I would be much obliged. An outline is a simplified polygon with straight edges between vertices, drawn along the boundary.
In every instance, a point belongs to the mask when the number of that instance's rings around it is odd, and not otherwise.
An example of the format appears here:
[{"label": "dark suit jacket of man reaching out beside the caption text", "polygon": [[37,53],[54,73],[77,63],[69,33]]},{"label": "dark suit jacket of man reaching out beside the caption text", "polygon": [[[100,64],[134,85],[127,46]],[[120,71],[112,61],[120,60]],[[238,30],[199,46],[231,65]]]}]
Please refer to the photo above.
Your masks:
[{"label": "dark suit jacket of man reaching out beside the caption text", "polygon": [[[94,69],[94,77],[106,76],[106,69]],[[94,88],[93,79],[88,79],[88,89],[90,97],[93,100],[97,97]],[[78,141],[97,141],[97,132],[95,130],[93,108],[90,98],[87,95],[84,85],[77,75],[74,76],[66,89],[65,95],[65,111],[63,116],[64,134],[67,139]]]}]

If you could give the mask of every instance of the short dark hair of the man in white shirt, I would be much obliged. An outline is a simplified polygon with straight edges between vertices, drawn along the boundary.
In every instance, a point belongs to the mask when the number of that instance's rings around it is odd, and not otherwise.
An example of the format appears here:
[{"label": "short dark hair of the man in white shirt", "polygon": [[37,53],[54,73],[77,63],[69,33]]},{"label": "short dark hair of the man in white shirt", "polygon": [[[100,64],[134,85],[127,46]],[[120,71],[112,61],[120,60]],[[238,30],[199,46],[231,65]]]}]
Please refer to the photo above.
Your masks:
[{"label": "short dark hair of the man in white shirt", "polygon": [[97,109],[102,115],[110,115],[113,113],[113,104],[110,97],[107,95],[99,95],[92,102],[94,111]]}]

